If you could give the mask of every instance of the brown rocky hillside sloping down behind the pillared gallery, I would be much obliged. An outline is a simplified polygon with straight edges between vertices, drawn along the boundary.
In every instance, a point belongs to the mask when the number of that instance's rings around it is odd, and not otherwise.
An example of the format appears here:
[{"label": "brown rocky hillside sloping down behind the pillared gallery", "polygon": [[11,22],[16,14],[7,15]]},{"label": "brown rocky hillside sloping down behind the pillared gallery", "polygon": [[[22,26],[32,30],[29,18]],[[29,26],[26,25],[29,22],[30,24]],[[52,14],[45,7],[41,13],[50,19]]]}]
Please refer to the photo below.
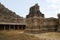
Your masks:
[{"label": "brown rocky hillside sloping down behind the pillared gallery", "polygon": [[23,22],[23,18],[0,3],[0,22]]}]

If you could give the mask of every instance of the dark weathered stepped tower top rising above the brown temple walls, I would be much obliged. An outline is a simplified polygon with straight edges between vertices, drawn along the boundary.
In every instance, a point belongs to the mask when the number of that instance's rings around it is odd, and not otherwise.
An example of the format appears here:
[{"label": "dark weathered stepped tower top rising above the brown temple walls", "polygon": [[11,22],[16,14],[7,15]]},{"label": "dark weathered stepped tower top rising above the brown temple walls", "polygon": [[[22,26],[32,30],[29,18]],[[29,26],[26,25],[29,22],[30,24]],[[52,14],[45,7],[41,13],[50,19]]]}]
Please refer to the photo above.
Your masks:
[{"label": "dark weathered stepped tower top rising above the brown temple walls", "polygon": [[39,10],[39,5],[35,4],[34,6],[32,6],[29,10],[29,14],[26,16],[26,18],[30,18],[30,17],[44,17],[44,14],[42,14]]}]

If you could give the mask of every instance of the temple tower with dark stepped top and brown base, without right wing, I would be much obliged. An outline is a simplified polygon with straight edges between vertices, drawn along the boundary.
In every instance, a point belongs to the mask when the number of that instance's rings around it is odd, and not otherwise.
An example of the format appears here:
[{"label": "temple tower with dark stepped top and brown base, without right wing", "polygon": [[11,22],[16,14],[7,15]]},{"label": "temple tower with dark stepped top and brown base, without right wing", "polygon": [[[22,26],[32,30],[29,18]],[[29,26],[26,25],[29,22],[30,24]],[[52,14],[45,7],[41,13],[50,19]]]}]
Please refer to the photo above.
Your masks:
[{"label": "temple tower with dark stepped top and brown base, without right wing", "polygon": [[28,32],[39,33],[40,28],[43,26],[44,14],[39,10],[39,5],[35,4],[29,10],[29,14],[26,16],[26,30]]}]

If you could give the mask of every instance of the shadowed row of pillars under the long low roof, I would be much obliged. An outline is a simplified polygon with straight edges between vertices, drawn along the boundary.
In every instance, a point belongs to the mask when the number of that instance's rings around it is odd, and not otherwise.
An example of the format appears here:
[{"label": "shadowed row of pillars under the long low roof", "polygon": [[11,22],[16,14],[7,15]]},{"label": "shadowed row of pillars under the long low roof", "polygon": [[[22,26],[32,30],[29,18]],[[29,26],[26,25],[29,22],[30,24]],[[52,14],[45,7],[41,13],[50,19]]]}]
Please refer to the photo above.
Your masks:
[{"label": "shadowed row of pillars under the long low roof", "polygon": [[0,25],[0,30],[23,30],[25,25]]}]

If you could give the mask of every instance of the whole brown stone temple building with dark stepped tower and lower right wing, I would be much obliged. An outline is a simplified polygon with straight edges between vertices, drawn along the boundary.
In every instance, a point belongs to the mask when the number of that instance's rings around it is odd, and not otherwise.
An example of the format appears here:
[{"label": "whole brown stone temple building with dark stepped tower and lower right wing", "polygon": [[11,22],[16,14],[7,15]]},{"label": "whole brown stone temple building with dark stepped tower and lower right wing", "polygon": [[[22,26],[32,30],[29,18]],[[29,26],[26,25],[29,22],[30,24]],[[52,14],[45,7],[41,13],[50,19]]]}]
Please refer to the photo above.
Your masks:
[{"label": "whole brown stone temple building with dark stepped tower and lower right wing", "polygon": [[26,29],[28,32],[55,32],[58,27],[57,18],[45,18],[39,10],[38,4],[30,8],[29,14],[26,16]]}]

